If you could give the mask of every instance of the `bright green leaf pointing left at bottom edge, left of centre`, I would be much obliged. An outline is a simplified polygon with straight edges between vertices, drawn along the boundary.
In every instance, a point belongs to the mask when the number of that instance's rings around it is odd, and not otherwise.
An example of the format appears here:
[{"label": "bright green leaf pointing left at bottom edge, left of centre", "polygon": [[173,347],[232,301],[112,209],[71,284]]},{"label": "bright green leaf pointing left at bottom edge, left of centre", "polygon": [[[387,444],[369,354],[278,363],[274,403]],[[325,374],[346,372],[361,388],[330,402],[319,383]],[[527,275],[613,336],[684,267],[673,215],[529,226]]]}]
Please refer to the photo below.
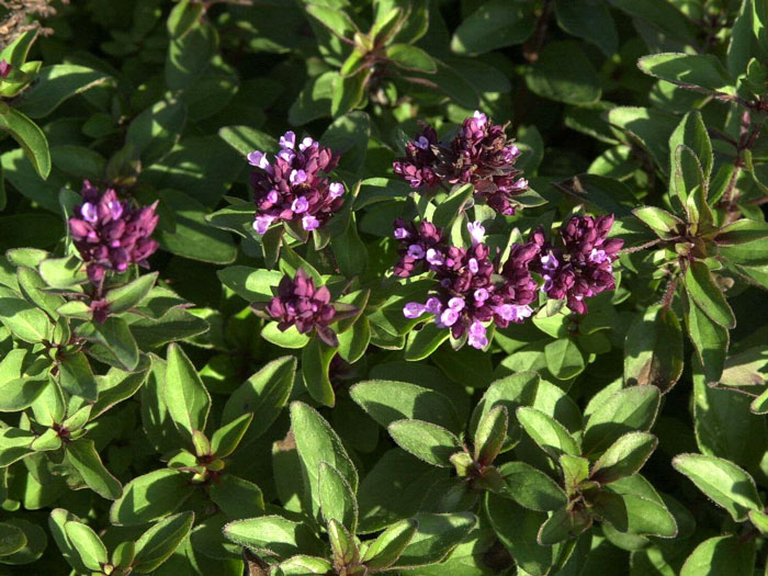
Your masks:
[{"label": "bright green leaf pointing left at bottom edge, left of centre", "polygon": [[318,549],[314,534],[305,524],[280,516],[235,520],[224,527],[224,537],[241,546],[269,551],[281,557]]}]

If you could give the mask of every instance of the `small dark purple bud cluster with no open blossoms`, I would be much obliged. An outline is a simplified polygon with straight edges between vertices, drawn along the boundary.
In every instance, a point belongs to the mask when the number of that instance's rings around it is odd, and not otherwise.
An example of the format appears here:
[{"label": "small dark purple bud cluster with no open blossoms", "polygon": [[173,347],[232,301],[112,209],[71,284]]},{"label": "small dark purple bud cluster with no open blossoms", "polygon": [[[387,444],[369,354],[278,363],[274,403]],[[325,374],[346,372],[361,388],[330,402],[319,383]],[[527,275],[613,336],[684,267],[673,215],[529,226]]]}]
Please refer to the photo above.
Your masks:
[{"label": "small dark purple bud cluster with no open blossoms", "polygon": [[301,268],[293,280],[283,276],[278,295],[270,301],[266,310],[279,321],[278,328],[282,331],[291,326],[295,326],[301,334],[315,330],[328,346],[338,346],[336,334],[328,328],[336,316],[330,292],[326,286],[315,287],[315,282]]}]

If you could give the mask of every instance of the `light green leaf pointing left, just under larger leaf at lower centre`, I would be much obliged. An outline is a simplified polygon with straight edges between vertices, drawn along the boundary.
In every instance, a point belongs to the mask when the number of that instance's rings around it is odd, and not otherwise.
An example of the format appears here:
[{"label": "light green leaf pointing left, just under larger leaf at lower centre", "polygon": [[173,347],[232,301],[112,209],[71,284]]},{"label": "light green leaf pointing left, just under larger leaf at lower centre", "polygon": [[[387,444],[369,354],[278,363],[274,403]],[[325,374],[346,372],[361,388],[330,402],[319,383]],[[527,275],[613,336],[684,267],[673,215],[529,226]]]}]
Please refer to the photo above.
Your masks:
[{"label": "light green leaf pointing left, just under larger leaf at lower centre", "polygon": [[430,422],[396,420],[387,431],[403,450],[434,466],[450,467],[451,455],[464,450],[450,430]]}]

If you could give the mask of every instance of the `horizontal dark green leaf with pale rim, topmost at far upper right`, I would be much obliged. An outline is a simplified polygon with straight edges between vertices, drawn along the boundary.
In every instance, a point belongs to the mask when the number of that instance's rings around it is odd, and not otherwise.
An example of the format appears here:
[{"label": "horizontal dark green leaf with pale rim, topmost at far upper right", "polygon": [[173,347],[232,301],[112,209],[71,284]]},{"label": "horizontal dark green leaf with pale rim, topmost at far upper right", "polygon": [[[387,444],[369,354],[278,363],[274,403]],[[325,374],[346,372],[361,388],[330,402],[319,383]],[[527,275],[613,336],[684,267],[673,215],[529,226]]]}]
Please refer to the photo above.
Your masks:
[{"label": "horizontal dark green leaf with pale rim, topmost at far upper right", "polygon": [[637,67],[650,76],[705,93],[734,94],[735,82],[711,54],[664,53],[643,56]]}]

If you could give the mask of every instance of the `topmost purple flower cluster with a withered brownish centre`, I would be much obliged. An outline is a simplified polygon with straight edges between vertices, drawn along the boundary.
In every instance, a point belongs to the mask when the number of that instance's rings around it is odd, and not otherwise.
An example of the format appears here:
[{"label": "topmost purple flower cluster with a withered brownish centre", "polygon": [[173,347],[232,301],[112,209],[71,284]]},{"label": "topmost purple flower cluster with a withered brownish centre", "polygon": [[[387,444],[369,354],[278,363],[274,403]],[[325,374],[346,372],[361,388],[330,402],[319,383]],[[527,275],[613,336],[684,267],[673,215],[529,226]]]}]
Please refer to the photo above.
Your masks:
[{"label": "topmost purple flower cluster with a withered brownish centre", "polygon": [[475,112],[450,142],[439,143],[434,129],[425,126],[406,145],[405,158],[395,161],[393,170],[414,189],[472,183],[476,197],[499,214],[512,215],[513,196],[528,189],[528,181],[515,168],[520,149],[507,138],[506,128]]}]

